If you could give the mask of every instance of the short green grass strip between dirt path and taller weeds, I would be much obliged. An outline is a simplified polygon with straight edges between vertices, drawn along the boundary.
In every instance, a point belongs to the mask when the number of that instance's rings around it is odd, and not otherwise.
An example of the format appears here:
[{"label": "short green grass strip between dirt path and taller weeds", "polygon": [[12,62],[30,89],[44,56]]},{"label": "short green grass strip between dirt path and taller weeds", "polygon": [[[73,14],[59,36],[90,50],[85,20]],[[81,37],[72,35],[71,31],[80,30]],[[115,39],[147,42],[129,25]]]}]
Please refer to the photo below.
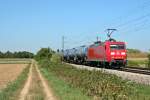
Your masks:
[{"label": "short green grass strip between dirt path and taller weeds", "polygon": [[54,73],[50,73],[44,68],[40,68],[40,70],[60,100],[90,100],[90,97],[84,95],[79,89],[73,88]]}]

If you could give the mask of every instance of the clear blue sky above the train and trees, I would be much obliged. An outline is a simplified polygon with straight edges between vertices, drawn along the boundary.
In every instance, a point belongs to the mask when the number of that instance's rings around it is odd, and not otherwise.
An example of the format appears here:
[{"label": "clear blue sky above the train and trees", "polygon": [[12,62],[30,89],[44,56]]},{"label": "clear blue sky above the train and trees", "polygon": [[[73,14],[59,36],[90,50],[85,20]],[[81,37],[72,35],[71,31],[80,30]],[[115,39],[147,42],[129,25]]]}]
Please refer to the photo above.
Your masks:
[{"label": "clear blue sky above the train and trees", "polygon": [[0,51],[90,44],[105,29],[128,48],[150,49],[150,0],[0,0]]}]

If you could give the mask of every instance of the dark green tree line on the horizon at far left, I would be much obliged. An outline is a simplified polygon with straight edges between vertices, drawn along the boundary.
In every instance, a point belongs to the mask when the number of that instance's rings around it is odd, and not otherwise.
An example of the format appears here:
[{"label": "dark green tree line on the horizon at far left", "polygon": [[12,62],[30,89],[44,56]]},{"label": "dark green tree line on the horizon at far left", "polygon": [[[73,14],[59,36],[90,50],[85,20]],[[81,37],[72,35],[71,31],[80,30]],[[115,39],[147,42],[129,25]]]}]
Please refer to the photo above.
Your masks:
[{"label": "dark green tree line on the horizon at far left", "polygon": [[34,58],[34,54],[27,51],[19,51],[19,52],[1,52],[0,58]]}]

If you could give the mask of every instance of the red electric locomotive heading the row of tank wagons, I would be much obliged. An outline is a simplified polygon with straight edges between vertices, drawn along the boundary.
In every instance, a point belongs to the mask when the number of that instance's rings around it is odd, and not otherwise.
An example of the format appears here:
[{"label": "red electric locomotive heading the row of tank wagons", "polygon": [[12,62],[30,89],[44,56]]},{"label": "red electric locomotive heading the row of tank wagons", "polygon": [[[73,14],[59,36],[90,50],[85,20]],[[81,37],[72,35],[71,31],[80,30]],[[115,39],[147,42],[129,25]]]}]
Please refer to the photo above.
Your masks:
[{"label": "red electric locomotive heading the row of tank wagons", "polygon": [[124,42],[105,41],[90,45],[87,51],[87,61],[92,65],[104,67],[123,67],[127,61]]}]

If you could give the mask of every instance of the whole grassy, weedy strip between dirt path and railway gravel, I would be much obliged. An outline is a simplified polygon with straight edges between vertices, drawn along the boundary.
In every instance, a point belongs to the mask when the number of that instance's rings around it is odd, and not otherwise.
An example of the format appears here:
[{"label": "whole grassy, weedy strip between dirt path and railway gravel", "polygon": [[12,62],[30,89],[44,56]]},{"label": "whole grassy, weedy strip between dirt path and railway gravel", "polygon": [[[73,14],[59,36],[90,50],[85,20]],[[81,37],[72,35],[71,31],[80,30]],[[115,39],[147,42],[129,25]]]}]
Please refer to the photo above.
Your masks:
[{"label": "whole grassy, weedy strip between dirt path and railway gravel", "polygon": [[[125,81],[115,75],[100,71],[79,70],[70,65],[49,61],[44,61],[40,65],[42,73],[53,86],[55,94],[66,100],[76,100],[73,99],[75,97],[94,100],[150,99],[149,86]],[[85,98],[78,98],[78,100],[85,100]]]}]

